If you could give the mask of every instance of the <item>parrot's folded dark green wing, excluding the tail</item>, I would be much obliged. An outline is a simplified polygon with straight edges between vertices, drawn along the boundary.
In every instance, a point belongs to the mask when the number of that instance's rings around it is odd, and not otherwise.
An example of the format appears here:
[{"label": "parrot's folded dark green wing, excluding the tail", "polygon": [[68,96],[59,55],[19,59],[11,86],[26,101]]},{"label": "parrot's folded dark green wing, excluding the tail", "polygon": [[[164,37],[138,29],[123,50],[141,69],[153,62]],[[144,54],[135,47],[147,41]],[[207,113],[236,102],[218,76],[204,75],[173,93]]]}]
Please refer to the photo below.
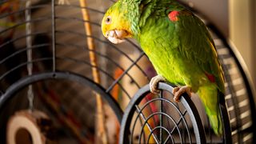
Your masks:
[{"label": "parrot's folded dark green wing, excluding the tail", "polygon": [[224,77],[222,66],[218,62],[217,52],[214,46],[214,41],[210,37],[204,23],[194,14],[179,15],[178,34],[181,40],[182,54],[195,62],[206,74],[214,75],[214,82],[223,94]]}]

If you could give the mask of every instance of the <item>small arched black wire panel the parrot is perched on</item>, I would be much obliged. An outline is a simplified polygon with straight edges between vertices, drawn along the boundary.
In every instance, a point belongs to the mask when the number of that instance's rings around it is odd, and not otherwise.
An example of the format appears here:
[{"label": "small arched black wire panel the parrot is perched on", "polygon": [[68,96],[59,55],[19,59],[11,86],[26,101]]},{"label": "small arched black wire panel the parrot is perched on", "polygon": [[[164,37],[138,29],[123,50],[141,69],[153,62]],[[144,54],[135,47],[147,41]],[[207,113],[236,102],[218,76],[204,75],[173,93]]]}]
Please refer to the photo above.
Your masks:
[{"label": "small arched black wire panel the parrot is perched on", "polygon": [[[186,94],[173,100],[173,87],[159,83],[160,94],[144,86],[134,95],[122,119],[119,143],[206,143],[200,116]],[[138,129],[139,127],[139,129]]]}]

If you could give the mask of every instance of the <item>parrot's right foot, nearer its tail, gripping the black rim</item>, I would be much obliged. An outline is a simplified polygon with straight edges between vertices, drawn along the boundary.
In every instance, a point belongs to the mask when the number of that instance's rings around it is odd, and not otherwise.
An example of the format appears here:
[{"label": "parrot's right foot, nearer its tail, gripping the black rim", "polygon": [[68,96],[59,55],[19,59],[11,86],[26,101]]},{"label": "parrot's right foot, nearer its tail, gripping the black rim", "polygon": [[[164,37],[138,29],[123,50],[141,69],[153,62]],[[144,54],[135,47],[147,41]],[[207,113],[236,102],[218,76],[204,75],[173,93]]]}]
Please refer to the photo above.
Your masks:
[{"label": "parrot's right foot, nearer its tail, gripping the black rim", "polygon": [[173,94],[174,94],[174,102],[179,102],[179,98],[182,94],[186,93],[191,97],[191,87],[190,86],[181,86],[181,87],[174,87]]}]

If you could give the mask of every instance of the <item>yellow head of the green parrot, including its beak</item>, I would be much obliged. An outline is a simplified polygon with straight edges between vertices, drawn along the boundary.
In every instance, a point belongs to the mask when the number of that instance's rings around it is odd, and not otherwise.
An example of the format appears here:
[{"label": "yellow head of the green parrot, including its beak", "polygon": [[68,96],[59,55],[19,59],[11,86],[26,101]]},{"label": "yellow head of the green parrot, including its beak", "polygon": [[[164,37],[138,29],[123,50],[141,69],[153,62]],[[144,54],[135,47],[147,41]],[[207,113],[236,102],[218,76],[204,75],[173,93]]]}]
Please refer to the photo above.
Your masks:
[{"label": "yellow head of the green parrot, including its beak", "polygon": [[114,44],[123,42],[123,38],[133,36],[126,13],[126,9],[122,9],[122,1],[118,1],[106,11],[102,19],[102,33]]}]

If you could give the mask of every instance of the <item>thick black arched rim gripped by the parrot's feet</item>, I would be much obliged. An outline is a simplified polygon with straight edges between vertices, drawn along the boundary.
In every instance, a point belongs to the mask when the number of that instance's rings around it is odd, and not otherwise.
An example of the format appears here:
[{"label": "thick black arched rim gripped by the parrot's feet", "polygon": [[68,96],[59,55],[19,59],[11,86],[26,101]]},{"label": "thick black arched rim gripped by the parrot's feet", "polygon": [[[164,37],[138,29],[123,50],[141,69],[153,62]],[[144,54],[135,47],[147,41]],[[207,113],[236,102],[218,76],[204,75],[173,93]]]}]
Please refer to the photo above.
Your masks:
[{"label": "thick black arched rim gripped by the parrot's feet", "polygon": [[[160,82],[158,85],[159,90],[166,90],[169,93],[172,93],[173,86],[170,86],[166,83]],[[138,110],[138,104],[142,102],[142,99],[146,97],[147,94],[150,94],[150,86],[146,85],[142,87],[142,89],[138,90],[138,92],[134,95],[134,98],[130,100],[129,105],[127,106],[124,116],[122,118],[121,130],[120,130],[120,139],[119,144],[122,143],[132,143],[130,142],[130,125],[136,110]],[[190,120],[192,122],[194,128],[194,136],[197,143],[206,143],[206,135],[202,126],[202,121],[199,117],[198,110],[194,106],[194,103],[191,101],[187,94],[183,94],[180,98],[180,102],[182,106],[189,114]],[[152,134],[152,133],[151,133]],[[150,134],[150,135],[151,135]]]}]

